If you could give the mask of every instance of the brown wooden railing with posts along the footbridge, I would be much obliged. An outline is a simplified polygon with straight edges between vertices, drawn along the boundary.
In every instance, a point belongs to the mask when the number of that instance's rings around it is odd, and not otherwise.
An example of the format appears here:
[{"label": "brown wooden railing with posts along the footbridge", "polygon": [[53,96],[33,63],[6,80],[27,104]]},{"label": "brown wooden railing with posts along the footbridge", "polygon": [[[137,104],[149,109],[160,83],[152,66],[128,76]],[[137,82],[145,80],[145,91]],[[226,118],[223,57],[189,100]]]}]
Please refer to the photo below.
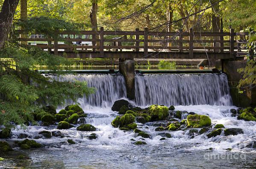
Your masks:
[{"label": "brown wooden railing with posts along the footbridge", "polygon": [[[16,30],[22,34],[22,30]],[[92,51],[99,52],[99,57],[104,57],[104,52],[135,51],[144,52],[147,57],[149,52],[189,52],[189,58],[194,58],[194,52],[229,52],[230,58],[246,55],[248,43],[245,36],[248,32],[151,32],[147,28],[143,31],[61,31],[55,30],[54,36],[45,35],[45,38],[17,38],[30,45],[54,52],[58,51]],[[242,37],[242,38],[240,38]],[[234,39],[235,38],[235,39]],[[242,39],[242,40],[241,40]],[[36,43],[40,41],[40,43]],[[35,44],[32,44],[35,42]],[[69,42],[69,43],[66,43]],[[74,44],[76,42],[76,44]],[[66,43],[66,44],[65,44]]]}]

